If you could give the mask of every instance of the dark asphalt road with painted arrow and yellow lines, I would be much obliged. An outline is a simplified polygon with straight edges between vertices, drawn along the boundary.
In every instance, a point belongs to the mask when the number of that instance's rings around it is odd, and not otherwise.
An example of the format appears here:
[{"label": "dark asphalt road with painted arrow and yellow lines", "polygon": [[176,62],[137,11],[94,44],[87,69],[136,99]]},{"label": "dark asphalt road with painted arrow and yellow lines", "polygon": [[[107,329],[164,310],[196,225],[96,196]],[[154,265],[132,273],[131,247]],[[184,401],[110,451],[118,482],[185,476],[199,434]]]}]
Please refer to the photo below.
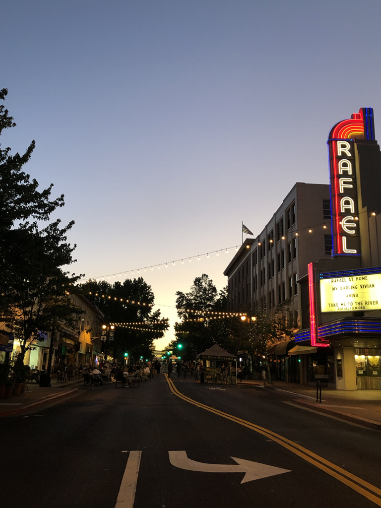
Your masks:
[{"label": "dark asphalt road with painted arrow and yellow lines", "polygon": [[2,508],[381,506],[380,432],[266,389],[173,382],[1,419]]}]

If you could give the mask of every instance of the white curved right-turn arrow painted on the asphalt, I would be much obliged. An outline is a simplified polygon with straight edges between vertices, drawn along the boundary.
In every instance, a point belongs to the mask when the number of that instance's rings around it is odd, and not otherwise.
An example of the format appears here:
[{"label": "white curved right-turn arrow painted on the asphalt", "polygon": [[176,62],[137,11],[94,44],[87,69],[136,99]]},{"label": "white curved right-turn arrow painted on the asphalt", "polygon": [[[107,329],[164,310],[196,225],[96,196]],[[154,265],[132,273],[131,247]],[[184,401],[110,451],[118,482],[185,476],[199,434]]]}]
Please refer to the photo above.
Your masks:
[{"label": "white curved right-turn arrow painted on the asphalt", "polygon": [[205,462],[196,462],[195,460],[188,459],[186,452],[168,452],[171,464],[180,469],[187,469],[188,471],[204,471],[211,473],[236,473],[244,472],[245,475],[241,483],[252,482],[260,478],[267,478],[275,474],[282,474],[291,472],[290,469],[282,469],[280,467],[269,466],[261,464],[260,462],[252,462],[251,460],[237,459],[235,464],[207,464]]}]

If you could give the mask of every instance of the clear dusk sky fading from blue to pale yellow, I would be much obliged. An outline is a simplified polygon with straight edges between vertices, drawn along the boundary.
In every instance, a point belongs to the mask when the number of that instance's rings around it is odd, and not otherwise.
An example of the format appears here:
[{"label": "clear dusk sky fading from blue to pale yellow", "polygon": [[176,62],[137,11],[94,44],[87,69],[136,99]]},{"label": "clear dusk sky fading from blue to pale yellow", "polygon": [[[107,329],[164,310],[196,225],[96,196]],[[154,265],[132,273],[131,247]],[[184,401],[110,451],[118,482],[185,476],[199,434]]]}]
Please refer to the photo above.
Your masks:
[{"label": "clear dusk sky fading from blue to pale yellow", "polygon": [[196,276],[226,285],[242,220],[257,235],[295,182],[329,183],[334,123],[373,107],[381,139],[379,0],[13,0],[0,20],[2,146],[36,140],[74,270],[148,267],[172,324]]}]

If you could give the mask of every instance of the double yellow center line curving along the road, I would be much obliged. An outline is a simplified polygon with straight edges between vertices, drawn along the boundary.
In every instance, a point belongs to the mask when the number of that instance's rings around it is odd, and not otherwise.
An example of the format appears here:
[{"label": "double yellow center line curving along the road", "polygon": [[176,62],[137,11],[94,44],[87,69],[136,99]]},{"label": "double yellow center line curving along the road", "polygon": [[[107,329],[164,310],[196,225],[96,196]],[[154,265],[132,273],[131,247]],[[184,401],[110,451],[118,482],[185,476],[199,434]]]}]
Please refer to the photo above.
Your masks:
[{"label": "double yellow center line curving along the road", "polygon": [[294,453],[295,455],[298,455],[299,457],[306,460],[310,464],[319,467],[319,469],[330,474],[333,478],[336,478],[336,480],[338,480],[339,482],[355,490],[356,492],[363,495],[367,499],[370,499],[377,506],[381,506],[381,490],[375,487],[374,485],[366,482],[365,480],[362,480],[355,474],[345,471],[345,469],[342,469],[341,467],[337,466],[336,464],[333,464],[329,460],[320,457],[320,455],[316,455],[315,453],[300,446],[300,444],[295,443],[290,439],[287,439],[287,437],[283,437],[279,434],[276,434],[272,430],[260,427],[259,425],[247,422],[246,420],[242,420],[241,418],[229,415],[224,411],[220,411],[219,409],[215,409],[214,407],[207,406],[206,404],[202,404],[201,402],[197,402],[196,400],[186,397],[177,390],[177,388],[172,382],[172,379],[169,379],[167,374],[165,374],[165,376],[171,392],[180,399],[184,400],[185,402],[189,402],[189,404],[201,407],[206,411],[212,412],[217,416],[221,416],[223,418],[226,418],[227,420],[231,420],[232,422],[238,423],[239,425],[243,425],[243,427],[247,427],[248,429],[254,430],[259,434],[262,434],[272,439],[273,441],[280,444],[280,446],[282,446],[283,448],[287,448],[287,450],[290,450],[290,452]]}]

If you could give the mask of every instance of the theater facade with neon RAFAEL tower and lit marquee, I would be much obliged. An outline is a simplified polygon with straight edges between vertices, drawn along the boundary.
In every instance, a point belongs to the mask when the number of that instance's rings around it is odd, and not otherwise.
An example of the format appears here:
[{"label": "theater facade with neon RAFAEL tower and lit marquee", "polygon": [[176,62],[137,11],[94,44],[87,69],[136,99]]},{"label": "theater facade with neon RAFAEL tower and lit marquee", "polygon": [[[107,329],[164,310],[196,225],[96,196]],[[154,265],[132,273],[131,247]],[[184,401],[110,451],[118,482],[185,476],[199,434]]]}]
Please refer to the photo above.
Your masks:
[{"label": "theater facade with neon RAFAEL tower and lit marquee", "polygon": [[381,389],[381,154],[372,108],[336,123],[328,137],[332,255],[311,259],[298,280],[301,382]]}]

